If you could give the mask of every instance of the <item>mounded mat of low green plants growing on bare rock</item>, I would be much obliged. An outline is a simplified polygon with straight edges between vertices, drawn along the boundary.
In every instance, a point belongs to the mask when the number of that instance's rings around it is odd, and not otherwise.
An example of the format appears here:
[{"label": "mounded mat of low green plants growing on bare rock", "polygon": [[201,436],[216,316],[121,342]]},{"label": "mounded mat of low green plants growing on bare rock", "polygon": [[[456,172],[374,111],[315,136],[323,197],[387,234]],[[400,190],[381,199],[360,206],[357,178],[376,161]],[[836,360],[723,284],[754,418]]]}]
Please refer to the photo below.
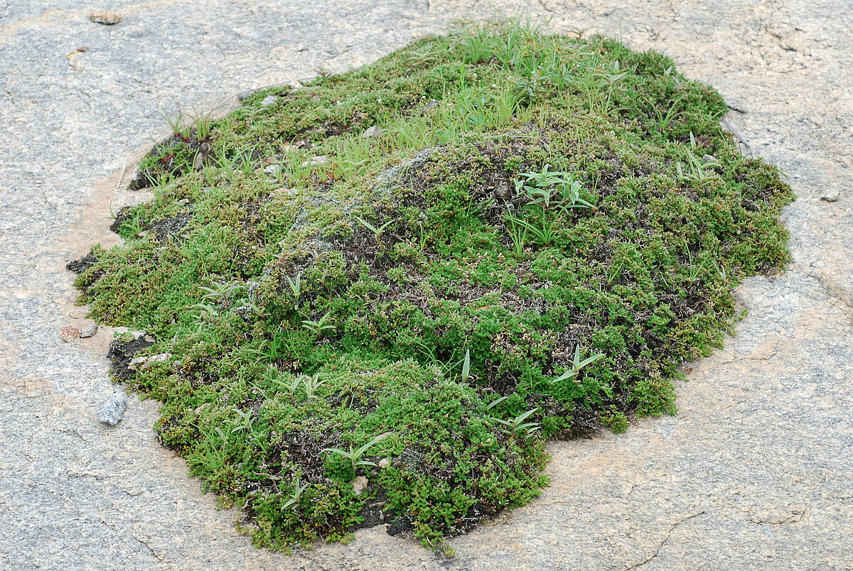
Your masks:
[{"label": "mounded mat of low green plants growing on bare rock", "polygon": [[664,55],[461,27],[177,125],[80,302],[171,354],[127,382],[258,545],[378,509],[440,548],[537,496],[548,438],[675,412],[784,266],[792,193],[725,111]]}]

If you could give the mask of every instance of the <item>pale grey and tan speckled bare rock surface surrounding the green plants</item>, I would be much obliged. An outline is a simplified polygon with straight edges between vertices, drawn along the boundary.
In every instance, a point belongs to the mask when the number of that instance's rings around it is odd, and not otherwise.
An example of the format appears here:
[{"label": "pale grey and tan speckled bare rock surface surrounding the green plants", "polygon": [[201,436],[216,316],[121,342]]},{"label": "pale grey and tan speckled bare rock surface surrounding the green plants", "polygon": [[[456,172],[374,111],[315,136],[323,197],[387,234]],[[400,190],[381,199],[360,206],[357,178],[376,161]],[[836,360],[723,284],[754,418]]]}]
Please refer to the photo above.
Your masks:
[{"label": "pale grey and tan speckled bare rock surface surrounding the green plants", "polygon": [[[853,568],[853,5],[844,0],[0,0],[0,568]],[[84,4],[84,5],[83,5]],[[114,10],[102,26],[91,12]],[[794,262],[740,287],[749,315],[686,368],[676,417],[555,443],[541,499],[438,558],[383,527],[258,550],[157,443],[157,403],[115,427],[111,332],[84,328],[65,263],[112,243],[119,173],[159,110],[372,61],[450,20],[529,9],[658,49],[726,97],[779,164]],[[220,106],[221,110],[227,105]],[[829,201],[825,197],[831,197]]]}]

